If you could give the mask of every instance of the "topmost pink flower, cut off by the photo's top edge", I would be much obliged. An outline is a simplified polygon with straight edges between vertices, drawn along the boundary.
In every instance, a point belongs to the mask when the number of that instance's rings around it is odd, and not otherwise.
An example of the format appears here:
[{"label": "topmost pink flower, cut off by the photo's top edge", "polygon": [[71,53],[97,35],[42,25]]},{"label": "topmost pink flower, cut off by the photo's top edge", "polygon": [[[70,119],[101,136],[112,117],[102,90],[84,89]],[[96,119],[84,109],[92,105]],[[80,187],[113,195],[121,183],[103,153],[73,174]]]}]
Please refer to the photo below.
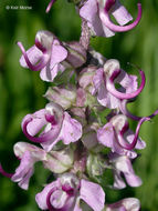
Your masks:
[{"label": "topmost pink flower, cut off by the photo's top edge", "polygon": [[[110,21],[110,13],[119,26]],[[138,3],[138,16],[136,20],[128,24],[133,17],[119,0],[87,0],[80,9],[80,16],[87,21],[93,34],[102,37],[112,37],[115,32],[128,31],[135,28],[141,18],[141,4]]]}]

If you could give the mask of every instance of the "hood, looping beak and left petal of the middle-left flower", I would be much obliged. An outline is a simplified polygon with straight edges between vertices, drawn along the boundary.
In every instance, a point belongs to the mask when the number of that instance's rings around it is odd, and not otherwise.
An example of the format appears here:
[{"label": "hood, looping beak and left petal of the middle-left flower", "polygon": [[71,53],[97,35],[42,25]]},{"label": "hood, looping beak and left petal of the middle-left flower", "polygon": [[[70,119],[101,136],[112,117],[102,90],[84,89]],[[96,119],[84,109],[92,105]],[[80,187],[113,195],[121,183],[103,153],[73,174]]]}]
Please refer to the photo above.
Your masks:
[{"label": "hood, looping beak and left petal of the middle-left flower", "polygon": [[[28,139],[38,143],[45,143],[50,145],[56,141],[63,123],[63,109],[56,103],[49,103],[44,110],[40,110],[34,114],[28,114],[22,121],[22,131]],[[34,121],[35,120],[35,121]],[[43,121],[43,122],[42,122]],[[36,124],[36,122],[39,124]],[[35,128],[35,133],[30,129],[29,124]],[[34,137],[42,125],[46,125],[44,131],[39,137]],[[33,132],[33,134],[32,134]]]}]

